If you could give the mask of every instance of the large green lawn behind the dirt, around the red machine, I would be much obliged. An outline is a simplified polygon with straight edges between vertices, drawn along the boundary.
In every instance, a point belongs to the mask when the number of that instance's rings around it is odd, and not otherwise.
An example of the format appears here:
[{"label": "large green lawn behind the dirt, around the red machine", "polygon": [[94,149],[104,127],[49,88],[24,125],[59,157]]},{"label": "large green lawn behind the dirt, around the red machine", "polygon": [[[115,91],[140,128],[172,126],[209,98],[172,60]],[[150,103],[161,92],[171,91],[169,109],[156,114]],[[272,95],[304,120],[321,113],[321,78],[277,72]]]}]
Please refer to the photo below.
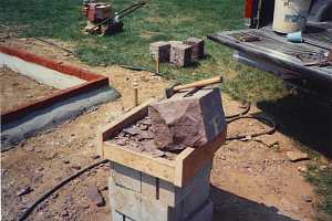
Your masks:
[{"label": "large green lawn behind the dirt, around the red machine", "polygon": [[[158,40],[204,38],[221,30],[241,29],[243,0],[153,0],[124,19],[125,31],[112,36],[85,35],[80,15],[82,0],[0,1],[0,23],[20,36],[42,36],[69,41],[79,59],[90,65],[126,64],[154,69],[148,44]],[[133,1],[112,1],[116,10]],[[1,27],[0,27],[1,29]],[[1,30],[0,30],[1,32]],[[231,50],[206,41],[208,59],[189,69],[162,64],[166,78],[185,83],[222,75],[222,90],[237,99],[276,99],[286,94],[281,81],[240,65]],[[196,73],[196,74],[193,74]]]}]

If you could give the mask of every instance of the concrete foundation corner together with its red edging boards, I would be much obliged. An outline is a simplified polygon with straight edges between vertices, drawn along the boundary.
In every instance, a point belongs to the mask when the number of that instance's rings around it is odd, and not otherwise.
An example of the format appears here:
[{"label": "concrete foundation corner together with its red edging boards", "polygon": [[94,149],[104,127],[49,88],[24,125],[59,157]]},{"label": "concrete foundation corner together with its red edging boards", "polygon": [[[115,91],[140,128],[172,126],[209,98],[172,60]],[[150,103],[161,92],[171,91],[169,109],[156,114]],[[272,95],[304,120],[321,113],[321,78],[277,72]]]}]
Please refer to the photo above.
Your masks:
[{"label": "concrete foundation corner together with its red edging boards", "polygon": [[[75,117],[95,105],[120,97],[118,92],[108,85],[110,82],[106,76],[4,45],[0,45],[0,54],[6,54],[0,56],[0,59],[2,57],[0,61],[2,65],[7,66],[7,61],[13,67],[22,65],[20,69],[14,70],[23,71],[24,65],[39,65],[42,69],[38,67],[35,70],[50,70],[42,72],[42,74],[54,74],[56,75],[56,81],[61,78],[63,81],[72,81],[71,84],[66,82],[66,88],[50,96],[1,113],[1,151],[10,149],[12,144],[40,130]],[[11,57],[13,57],[13,62],[10,61]],[[33,70],[32,67],[30,71],[33,72]],[[32,76],[37,75],[37,73],[32,72],[29,74]],[[48,77],[41,78],[45,80]],[[52,77],[49,78],[52,80]],[[58,84],[61,84],[61,82],[59,81]]]}]

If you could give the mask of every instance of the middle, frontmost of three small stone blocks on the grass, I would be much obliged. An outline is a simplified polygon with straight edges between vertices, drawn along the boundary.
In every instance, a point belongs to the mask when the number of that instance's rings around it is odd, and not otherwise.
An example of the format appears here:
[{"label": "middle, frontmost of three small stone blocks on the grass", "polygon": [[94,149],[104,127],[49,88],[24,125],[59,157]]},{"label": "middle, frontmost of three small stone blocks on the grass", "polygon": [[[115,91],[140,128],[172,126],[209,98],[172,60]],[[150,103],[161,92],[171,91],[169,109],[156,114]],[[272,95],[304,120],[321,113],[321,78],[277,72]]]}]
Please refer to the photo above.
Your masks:
[{"label": "middle, frontmost of three small stone blocks on the grass", "polygon": [[191,46],[183,43],[170,45],[169,62],[176,66],[189,66],[191,64]]}]

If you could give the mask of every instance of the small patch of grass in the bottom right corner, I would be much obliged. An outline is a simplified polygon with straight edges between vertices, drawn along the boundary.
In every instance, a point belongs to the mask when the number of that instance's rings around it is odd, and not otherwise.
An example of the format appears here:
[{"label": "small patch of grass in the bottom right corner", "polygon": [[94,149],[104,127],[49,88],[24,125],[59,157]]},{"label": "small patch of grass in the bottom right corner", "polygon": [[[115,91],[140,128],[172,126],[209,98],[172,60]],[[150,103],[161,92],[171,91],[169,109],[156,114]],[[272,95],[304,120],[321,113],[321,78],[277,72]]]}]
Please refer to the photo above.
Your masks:
[{"label": "small patch of grass in the bottom right corner", "polygon": [[305,178],[315,186],[315,192],[321,198],[318,220],[332,220],[332,167],[320,169],[317,165],[311,165]]}]

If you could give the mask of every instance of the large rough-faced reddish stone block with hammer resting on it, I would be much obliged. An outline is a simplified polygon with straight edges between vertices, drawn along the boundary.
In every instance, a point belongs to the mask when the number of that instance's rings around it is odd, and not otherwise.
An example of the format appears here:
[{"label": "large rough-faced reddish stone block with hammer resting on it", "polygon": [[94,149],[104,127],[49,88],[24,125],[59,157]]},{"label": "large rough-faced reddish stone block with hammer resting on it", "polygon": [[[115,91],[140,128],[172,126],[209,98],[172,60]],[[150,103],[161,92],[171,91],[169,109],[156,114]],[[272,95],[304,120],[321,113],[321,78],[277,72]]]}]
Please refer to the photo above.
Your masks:
[{"label": "large rough-faced reddish stone block with hammer resting on it", "polygon": [[198,148],[211,141],[226,127],[219,88],[187,92],[151,104],[148,116],[154,141],[163,150]]}]

